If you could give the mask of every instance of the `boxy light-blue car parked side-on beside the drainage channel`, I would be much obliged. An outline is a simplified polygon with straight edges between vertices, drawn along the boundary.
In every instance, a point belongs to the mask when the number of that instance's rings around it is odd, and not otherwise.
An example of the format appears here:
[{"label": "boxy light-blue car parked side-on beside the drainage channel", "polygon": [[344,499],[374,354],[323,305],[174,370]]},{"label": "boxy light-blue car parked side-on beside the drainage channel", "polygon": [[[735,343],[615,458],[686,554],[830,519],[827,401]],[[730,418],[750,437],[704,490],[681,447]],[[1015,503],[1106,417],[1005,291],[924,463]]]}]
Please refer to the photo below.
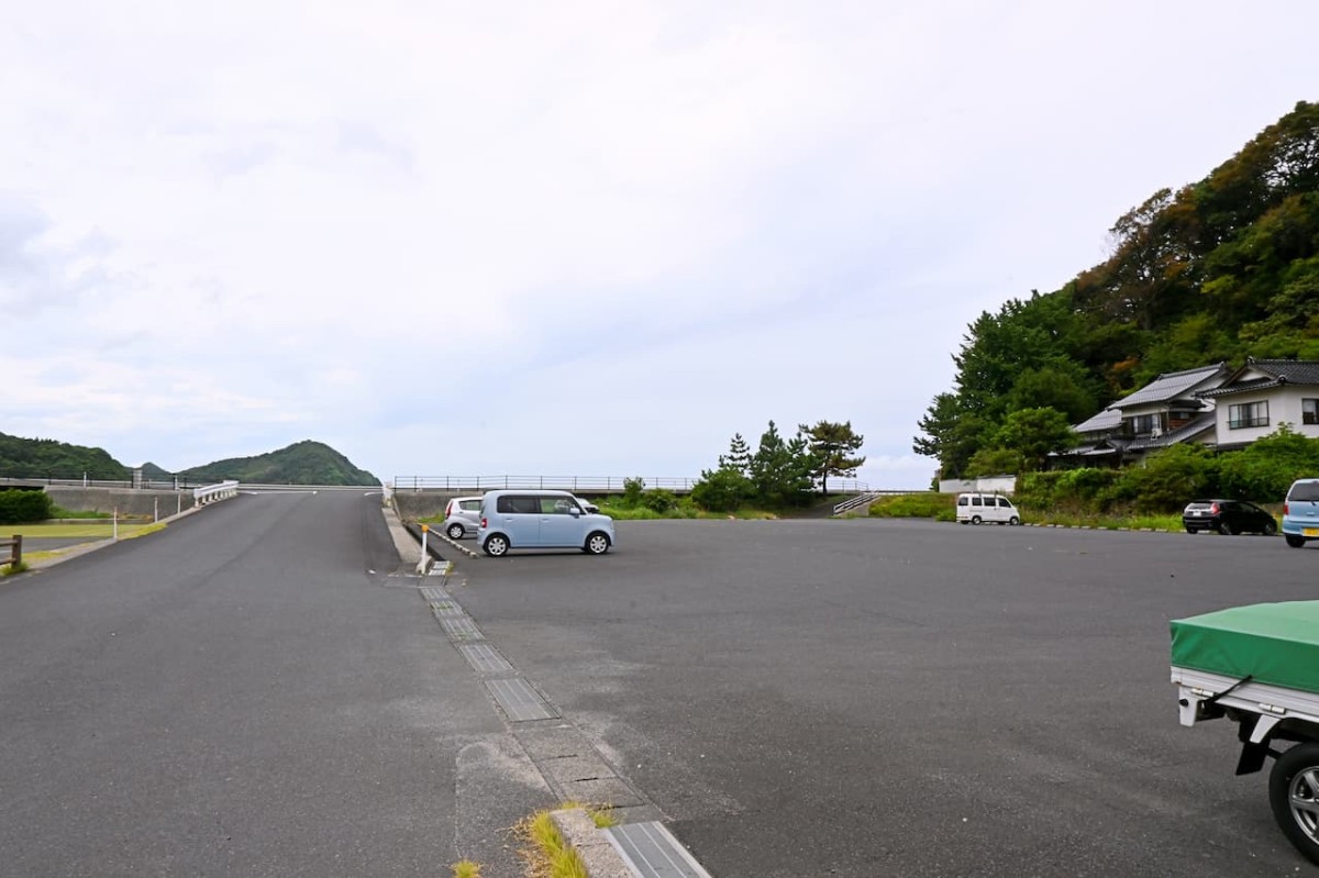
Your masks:
[{"label": "boxy light-blue car parked side-on beside the drainage channel", "polygon": [[492,558],[510,548],[580,548],[603,555],[613,546],[613,519],[587,512],[566,490],[492,490],[481,497],[476,544]]}]

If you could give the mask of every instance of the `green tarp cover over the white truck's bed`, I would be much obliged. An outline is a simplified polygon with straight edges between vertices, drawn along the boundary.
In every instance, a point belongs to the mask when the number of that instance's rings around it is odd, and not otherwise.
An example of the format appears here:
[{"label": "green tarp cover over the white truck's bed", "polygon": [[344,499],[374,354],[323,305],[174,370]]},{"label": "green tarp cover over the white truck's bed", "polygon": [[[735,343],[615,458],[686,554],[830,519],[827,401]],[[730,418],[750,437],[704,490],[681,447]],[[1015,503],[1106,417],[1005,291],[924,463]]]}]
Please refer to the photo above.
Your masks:
[{"label": "green tarp cover over the white truck's bed", "polygon": [[1171,625],[1175,667],[1319,692],[1319,601],[1233,606]]}]

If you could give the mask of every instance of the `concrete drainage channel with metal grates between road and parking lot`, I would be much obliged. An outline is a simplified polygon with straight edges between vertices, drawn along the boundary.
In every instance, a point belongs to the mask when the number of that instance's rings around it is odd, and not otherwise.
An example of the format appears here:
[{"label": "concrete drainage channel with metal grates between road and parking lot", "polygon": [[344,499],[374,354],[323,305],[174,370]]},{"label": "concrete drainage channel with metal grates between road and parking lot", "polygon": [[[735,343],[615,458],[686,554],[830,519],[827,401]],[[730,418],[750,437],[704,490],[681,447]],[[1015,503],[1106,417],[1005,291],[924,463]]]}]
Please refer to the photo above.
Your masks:
[{"label": "concrete drainage channel with metal grates between road and parking lot", "polygon": [[[441,570],[447,571],[448,566],[435,572]],[[445,587],[421,585],[418,591],[450,643],[480,678],[513,737],[555,798],[559,802],[608,803],[611,815],[619,821],[608,829],[598,829],[580,808],[553,815],[591,878],[710,878],[661,823],[660,808],[620,776],[586,734],[565,720],[485,639],[476,621]]]}]

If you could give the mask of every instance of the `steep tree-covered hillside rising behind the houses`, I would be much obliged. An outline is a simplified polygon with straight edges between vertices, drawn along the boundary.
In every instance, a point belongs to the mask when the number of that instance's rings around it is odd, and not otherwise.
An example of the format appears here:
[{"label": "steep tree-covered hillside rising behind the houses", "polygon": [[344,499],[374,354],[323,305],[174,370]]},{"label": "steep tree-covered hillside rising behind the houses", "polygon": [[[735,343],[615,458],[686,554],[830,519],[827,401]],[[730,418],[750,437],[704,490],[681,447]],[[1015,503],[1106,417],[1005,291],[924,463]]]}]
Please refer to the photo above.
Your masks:
[{"label": "steep tree-covered hillside rising behind the houses", "polygon": [[1297,104],[1111,233],[1112,254],[1063,289],[971,323],[955,386],[913,442],[943,476],[1030,469],[1068,423],[1163,372],[1319,359],[1319,104]]}]

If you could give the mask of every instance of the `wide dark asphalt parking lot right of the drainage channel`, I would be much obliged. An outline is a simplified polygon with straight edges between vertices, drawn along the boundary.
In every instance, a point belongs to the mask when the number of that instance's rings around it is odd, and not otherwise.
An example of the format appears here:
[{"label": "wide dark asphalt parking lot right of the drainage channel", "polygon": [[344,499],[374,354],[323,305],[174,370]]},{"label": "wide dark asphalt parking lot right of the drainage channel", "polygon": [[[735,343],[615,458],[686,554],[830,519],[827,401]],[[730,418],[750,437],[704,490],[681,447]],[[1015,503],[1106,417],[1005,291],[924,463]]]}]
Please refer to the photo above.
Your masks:
[{"label": "wide dark asphalt parking lot right of the drainage channel", "polygon": [[1316,573],[1279,538],[656,521],[451,591],[720,878],[1290,875],[1235,726],[1178,725],[1167,622]]}]

